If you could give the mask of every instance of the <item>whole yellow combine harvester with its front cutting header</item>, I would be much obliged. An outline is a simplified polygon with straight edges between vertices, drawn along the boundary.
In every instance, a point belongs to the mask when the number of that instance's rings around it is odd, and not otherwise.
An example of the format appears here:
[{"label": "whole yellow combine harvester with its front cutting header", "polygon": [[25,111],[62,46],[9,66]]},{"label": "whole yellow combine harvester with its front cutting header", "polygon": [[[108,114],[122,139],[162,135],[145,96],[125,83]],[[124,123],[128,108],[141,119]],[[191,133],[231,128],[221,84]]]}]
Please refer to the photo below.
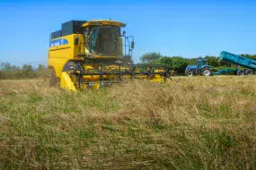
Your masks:
[{"label": "whole yellow combine harvester with its front cutting header", "polygon": [[119,21],[67,21],[51,33],[49,69],[64,89],[98,89],[125,79],[162,82],[161,65],[133,64],[134,38],[121,33]]}]

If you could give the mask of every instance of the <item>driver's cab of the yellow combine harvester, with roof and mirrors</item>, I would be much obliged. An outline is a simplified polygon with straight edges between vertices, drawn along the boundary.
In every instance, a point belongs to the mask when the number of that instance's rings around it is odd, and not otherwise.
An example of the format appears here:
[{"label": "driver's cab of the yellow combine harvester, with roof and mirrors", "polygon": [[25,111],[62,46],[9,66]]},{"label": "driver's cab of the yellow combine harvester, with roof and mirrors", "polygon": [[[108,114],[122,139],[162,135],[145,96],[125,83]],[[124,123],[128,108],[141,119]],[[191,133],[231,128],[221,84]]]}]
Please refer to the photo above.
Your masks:
[{"label": "driver's cab of the yellow combine harvester, with roof and mirrors", "polygon": [[121,33],[124,23],[119,21],[88,21],[84,27],[84,52],[89,58],[131,61],[134,38]]}]

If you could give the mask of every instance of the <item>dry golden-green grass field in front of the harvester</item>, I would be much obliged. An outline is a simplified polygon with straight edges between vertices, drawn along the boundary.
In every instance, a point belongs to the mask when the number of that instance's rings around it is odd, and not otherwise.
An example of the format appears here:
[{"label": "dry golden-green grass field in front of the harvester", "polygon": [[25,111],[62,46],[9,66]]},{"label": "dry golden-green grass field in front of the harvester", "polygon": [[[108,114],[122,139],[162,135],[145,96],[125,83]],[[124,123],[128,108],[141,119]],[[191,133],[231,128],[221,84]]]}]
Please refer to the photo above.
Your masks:
[{"label": "dry golden-green grass field in front of the harvester", "polygon": [[255,169],[256,76],[69,93],[0,81],[0,168]]}]

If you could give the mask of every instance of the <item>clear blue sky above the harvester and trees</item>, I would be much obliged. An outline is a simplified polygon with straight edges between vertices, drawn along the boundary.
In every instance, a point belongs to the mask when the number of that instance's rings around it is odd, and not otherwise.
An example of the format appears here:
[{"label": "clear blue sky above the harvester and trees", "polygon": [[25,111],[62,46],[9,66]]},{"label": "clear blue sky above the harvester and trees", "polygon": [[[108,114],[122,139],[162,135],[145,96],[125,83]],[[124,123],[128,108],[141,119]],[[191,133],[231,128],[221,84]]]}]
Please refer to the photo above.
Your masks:
[{"label": "clear blue sky above the harvester and trees", "polygon": [[47,64],[49,34],[69,20],[127,23],[134,60],[146,52],[197,57],[256,54],[255,0],[0,1],[0,62]]}]

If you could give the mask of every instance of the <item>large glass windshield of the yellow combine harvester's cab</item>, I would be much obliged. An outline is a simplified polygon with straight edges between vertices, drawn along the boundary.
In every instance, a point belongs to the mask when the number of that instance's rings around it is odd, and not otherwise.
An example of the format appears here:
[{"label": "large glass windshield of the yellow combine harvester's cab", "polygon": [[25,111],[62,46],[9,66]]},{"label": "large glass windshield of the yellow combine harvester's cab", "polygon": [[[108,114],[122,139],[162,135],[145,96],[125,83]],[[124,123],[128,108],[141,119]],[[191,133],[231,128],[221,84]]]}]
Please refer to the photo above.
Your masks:
[{"label": "large glass windshield of the yellow combine harvester's cab", "polygon": [[89,38],[90,52],[97,55],[118,55],[119,35],[120,29],[116,26],[94,27]]}]

